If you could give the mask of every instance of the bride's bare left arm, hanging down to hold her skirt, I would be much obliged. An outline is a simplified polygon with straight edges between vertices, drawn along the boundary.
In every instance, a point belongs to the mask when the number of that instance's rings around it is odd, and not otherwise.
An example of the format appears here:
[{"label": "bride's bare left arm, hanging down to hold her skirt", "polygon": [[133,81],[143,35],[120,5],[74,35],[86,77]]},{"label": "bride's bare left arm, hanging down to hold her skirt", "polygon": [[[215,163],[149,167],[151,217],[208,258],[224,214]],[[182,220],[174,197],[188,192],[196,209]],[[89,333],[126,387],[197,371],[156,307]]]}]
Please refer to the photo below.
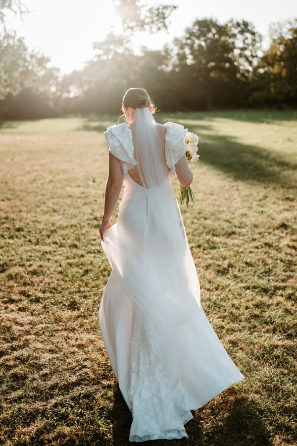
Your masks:
[{"label": "bride's bare left arm, hanging down to hold her skirt", "polygon": [[104,214],[99,229],[103,240],[103,231],[111,226],[111,216],[120,196],[123,185],[123,169],[120,160],[109,152],[109,172],[105,188]]}]

